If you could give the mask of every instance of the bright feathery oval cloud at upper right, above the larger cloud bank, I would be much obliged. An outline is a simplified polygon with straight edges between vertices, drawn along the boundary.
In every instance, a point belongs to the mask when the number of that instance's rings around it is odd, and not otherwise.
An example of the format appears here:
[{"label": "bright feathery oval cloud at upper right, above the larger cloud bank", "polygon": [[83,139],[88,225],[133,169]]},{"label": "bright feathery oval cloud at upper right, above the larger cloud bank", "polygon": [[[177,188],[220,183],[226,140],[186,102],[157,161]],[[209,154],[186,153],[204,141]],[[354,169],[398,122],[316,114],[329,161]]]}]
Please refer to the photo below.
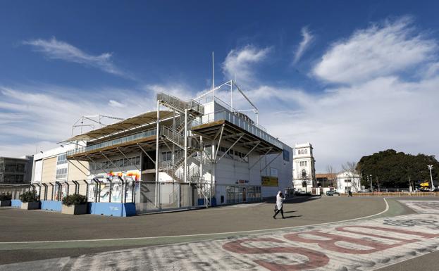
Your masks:
[{"label": "bright feathery oval cloud at upper right, above the larger cloud bank", "polygon": [[431,61],[437,51],[437,43],[419,34],[411,18],[385,20],[335,42],[313,73],[327,82],[364,82]]}]

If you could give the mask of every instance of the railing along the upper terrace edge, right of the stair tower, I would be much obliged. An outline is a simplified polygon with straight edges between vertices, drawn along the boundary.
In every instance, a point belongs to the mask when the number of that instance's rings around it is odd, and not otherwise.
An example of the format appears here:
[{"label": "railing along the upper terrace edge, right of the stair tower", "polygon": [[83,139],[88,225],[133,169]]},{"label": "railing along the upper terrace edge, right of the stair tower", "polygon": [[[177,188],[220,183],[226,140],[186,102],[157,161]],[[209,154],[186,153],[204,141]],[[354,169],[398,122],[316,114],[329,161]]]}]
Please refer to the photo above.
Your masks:
[{"label": "railing along the upper terrace edge, right of the stair tower", "polygon": [[260,127],[256,126],[256,124],[252,124],[247,120],[240,118],[235,113],[231,113],[230,111],[227,110],[217,111],[215,113],[209,113],[203,115],[202,117],[203,123],[214,122],[217,120],[227,120],[228,122],[233,123],[237,127],[240,127],[246,130],[247,132],[254,134],[256,137],[264,139],[268,143],[278,146],[279,148],[283,148],[282,142],[280,142],[278,139],[272,137],[265,130],[262,130]]}]

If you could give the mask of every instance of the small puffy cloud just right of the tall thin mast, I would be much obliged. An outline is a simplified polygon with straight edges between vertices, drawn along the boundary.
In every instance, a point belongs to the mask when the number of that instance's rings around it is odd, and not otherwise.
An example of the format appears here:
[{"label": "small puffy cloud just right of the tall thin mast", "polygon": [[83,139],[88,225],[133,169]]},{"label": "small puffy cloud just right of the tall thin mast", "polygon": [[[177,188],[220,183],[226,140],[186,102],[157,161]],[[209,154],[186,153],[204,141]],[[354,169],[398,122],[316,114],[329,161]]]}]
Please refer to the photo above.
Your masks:
[{"label": "small puffy cloud just right of the tall thin mast", "polygon": [[254,67],[264,61],[271,48],[258,49],[247,45],[241,49],[233,49],[225,57],[222,68],[227,80],[237,77],[237,82],[243,85],[254,83]]}]

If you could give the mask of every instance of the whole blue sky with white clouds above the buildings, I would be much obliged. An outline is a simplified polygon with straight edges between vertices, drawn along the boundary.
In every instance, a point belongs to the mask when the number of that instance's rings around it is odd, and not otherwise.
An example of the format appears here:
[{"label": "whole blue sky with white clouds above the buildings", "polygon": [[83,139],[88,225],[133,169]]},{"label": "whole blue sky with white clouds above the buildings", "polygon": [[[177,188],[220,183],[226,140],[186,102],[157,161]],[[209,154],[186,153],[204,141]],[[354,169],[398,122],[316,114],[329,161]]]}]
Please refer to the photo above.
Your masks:
[{"label": "whole blue sky with white clouds above the buildings", "polygon": [[[316,171],[439,154],[438,1],[0,1],[0,156],[235,80]],[[217,93],[230,100],[228,92]],[[238,94],[233,106],[248,106]],[[249,114],[250,117],[253,115]],[[105,120],[109,124],[113,120]],[[78,129],[73,134],[78,134]]]}]

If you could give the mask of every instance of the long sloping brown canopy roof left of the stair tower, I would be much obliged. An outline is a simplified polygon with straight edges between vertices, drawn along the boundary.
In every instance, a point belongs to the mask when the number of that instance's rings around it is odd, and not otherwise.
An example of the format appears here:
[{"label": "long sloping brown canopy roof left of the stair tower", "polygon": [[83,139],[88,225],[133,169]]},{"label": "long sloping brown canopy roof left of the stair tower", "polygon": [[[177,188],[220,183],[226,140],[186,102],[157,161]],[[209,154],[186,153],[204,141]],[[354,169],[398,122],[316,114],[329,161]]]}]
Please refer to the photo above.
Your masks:
[{"label": "long sloping brown canopy roof left of the stair tower", "polygon": [[[166,118],[171,118],[175,115],[172,111],[159,111],[160,120],[165,120]],[[140,115],[135,115],[134,117],[127,118],[120,122],[113,123],[111,125],[106,125],[97,130],[92,130],[86,132],[85,134],[78,134],[75,137],[66,139],[65,141],[93,141],[97,139],[103,139],[112,135],[120,134],[123,132],[128,132],[130,130],[135,130],[137,128],[151,125],[157,120],[157,111],[149,111],[147,113],[142,113]]]}]

